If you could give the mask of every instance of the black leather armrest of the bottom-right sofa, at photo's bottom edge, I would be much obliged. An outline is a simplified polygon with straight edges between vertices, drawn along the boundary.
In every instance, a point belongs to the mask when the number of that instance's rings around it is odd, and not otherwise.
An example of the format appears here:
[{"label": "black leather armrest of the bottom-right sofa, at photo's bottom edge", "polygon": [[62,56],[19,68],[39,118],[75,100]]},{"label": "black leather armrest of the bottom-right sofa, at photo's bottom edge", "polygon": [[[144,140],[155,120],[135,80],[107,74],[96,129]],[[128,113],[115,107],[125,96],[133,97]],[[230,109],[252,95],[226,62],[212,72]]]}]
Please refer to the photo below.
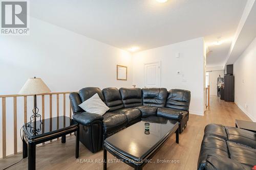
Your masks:
[{"label": "black leather armrest of the bottom-right sofa, at photo's bottom edge", "polygon": [[198,170],[244,170],[251,169],[251,167],[244,165],[242,163],[236,162],[230,158],[220,156],[220,155],[207,155],[206,162],[201,163],[198,166]]}]

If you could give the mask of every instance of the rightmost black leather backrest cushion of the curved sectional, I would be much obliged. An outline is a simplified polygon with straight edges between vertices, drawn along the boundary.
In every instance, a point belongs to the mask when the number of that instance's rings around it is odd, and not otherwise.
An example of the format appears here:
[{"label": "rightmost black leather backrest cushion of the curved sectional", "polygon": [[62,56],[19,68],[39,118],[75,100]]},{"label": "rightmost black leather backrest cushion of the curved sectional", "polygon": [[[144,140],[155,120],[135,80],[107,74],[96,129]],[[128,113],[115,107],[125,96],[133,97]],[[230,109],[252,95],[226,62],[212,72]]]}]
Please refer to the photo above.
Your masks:
[{"label": "rightmost black leather backrest cushion of the curved sectional", "polygon": [[190,91],[183,89],[171,89],[168,93],[165,107],[189,110],[190,104]]}]

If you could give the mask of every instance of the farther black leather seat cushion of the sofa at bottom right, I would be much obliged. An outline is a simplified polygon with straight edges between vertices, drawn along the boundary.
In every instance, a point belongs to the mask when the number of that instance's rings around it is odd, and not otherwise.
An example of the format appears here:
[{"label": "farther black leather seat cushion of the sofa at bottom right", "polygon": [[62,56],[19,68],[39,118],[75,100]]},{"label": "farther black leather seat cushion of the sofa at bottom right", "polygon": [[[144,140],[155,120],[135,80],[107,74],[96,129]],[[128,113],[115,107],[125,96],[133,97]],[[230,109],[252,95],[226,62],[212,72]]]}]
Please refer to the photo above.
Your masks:
[{"label": "farther black leather seat cushion of the sofa at bottom right", "polygon": [[[229,141],[246,145],[256,149],[256,134],[244,129],[225,127]],[[256,164],[256,162],[255,162]]]}]

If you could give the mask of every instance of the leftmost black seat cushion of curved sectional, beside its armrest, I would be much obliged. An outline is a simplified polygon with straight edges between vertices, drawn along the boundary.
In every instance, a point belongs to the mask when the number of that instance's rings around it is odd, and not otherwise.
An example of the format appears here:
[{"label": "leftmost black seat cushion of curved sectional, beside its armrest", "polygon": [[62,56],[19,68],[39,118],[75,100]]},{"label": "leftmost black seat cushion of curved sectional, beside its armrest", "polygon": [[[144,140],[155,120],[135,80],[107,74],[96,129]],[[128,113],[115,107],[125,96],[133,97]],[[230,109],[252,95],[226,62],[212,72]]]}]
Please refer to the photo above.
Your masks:
[{"label": "leftmost black seat cushion of curved sectional, beside its armrest", "polygon": [[102,128],[103,134],[111,134],[127,125],[127,118],[124,114],[106,112],[103,114]]}]

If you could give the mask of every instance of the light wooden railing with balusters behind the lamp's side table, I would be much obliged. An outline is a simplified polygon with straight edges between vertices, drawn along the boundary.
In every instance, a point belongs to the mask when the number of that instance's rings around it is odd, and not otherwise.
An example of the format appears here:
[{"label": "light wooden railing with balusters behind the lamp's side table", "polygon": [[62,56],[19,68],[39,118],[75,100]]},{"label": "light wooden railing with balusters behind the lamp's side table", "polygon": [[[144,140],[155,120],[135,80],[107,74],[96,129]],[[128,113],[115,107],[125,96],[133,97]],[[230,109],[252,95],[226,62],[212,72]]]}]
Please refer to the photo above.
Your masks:
[{"label": "light wooden railing with balusters behind the lamp's side table", "polygon": [[[65,91],[65,92],[50,92],[50,93],[42,93],[42,94],[38,94],[38,96],[41,96],[41,116],[44,119],[45,118],[45,96],[49,95],[49,116],[50,118],[53,117],[53,95],[56,95],[56,115],[59,116],[59,94],[63,95],[63,115],[66,115],[66,109],[69,110],[69,114],[67,116],[72,116],[72,109],[71,109],[71,103],[69,101],[69,105],[66,108],[66,94],[72,93],[71,91]],[[27,116],[28,116],[28,96],[33,96],[33,95],[20,95],[20,94],[7,94],[7,95],[0,95],[0,99],[2,99],[2,157],[6,158],[6,154],[7,154],[7,137],[6,137],[6,114],[7,113],[7,100],[6,98],[13,98],[13,125],[11,125],[12,123],[8,123],[8,126],[13,126],[13,154],[17,154],[18,153],[18,142],[17,142],[17,129],[19,129],[17,127],[17,112],[18,112],[18,107],[19,105],[17,105],[17,98],[22,97],[23,101],[24,101],[24,123],[28,122]],[[69,100],[69,98],[67,99]],[[9,101],[9,100],[8,100]],[[69,108],[68,108],[69,107]],[[50,125],[50,128],[51,125]],[[42,127],[42,131],[44,131],[44,126]],[[0,139],[1,140],[1,139]],[[44,143],[43,143],[44,144]]]}]

